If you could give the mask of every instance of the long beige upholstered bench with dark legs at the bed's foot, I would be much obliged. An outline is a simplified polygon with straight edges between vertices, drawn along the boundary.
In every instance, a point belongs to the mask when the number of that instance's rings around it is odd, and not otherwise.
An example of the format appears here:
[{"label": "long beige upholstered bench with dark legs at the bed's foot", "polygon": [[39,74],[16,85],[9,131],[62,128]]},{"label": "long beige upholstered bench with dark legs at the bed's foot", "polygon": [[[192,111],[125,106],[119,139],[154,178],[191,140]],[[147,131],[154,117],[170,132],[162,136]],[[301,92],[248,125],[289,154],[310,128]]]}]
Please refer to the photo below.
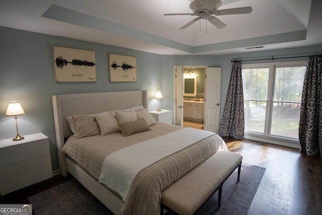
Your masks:
[{"label": "long beige upholstered bench with dark legs at the bed's foot", "polygon": [[181,215],[193,214],[217,190],[220,207],[222,185],[237,167],[239,181],[242,159],[229,151],[212,155],[162,192],[161,214],[164,208]]}]

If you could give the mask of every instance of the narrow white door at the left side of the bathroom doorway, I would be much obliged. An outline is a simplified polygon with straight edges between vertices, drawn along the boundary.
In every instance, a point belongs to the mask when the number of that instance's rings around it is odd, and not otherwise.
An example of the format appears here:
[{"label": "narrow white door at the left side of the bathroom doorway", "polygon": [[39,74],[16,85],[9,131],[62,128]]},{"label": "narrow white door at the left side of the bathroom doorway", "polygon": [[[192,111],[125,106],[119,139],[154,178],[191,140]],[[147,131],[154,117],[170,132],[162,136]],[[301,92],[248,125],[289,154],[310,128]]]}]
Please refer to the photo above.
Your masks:
[{"label": "narrow white door at the left side of the bathroom doorway", "polygon": [[175,125],[183,126],[183,66],[175,66]]}]

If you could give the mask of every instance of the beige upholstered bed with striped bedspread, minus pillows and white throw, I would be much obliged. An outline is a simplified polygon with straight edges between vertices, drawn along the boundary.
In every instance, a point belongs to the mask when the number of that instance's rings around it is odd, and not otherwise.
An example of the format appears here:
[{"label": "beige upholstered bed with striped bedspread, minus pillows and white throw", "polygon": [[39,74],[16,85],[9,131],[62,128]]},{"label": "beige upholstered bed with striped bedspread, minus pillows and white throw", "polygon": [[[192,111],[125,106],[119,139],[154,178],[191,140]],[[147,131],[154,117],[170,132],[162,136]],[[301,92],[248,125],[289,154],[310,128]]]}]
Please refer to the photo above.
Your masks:
[{"label": "beige upholstered bed with striped bedspread, minus pillows and white throw", "polygon": [[[164,189],[202,163],[218,150],[227,150],[216,134],[170,155],[143,169],[135,177],[125,202],[111,189],[98,182],[104,159],[109,154],[147,139],[155,138],[182,127],[157,123],[151,130],[130,136],[116,132],[104,136],[77,138],[66,120],[67,116],[96,114],[143,105],[147,108],[147,91],[121,91],[53,95],[59,171],[67,170],[114,214],[160,214],[160,198]],[[68,138],[65,144],[64,138]],[[68,155],[66,166],[65,154]],[[77,165],[75,164],[77,163]],[[81,168],[79,168],[81,167]],[[96,180],[93,180],[96,179]]]}]

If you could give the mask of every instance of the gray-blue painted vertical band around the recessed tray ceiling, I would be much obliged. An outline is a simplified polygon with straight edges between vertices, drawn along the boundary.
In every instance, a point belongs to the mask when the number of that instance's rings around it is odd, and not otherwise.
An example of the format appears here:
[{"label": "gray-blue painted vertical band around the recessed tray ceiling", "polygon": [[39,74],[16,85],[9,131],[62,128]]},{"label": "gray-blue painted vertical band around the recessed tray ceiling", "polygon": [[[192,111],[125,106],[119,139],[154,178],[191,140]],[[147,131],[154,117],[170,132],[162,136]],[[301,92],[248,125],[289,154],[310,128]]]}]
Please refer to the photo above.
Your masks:
[{"label": "gray-blue painted vertical band around the recessed tray ceiling", "polygon": [[95,29],[106,33],[121,35],[123,37],[132,38],[138,41],[144,41],[157,45],[171,47],[192,54],[205,53],[210,51],[221,51],[234,48],[260,46],[263,44],[276,44],[283,42],[300,41],[305,40],[307,34],[307,30],[301,30],[221,43],[213,43],[200,46],[189,46],[180,42],[176,42],[174,40],[166,39],[164,37],[156,36],[141,30],[117,24],[108,20],[100,19],[98,17],[90,16],[74,10],[66,9],[57,5],[51,5],[45,11],[42,17],[90,29]]}]

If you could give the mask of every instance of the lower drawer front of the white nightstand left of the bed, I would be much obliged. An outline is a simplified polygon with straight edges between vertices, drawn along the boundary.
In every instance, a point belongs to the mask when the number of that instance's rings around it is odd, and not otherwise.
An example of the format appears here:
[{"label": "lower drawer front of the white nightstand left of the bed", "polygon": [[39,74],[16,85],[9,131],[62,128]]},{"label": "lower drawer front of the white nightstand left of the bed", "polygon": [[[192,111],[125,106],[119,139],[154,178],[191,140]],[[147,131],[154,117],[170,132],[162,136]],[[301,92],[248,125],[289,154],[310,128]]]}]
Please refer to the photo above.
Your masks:
[{"label": "lower drawer front of the white nightstand left of the bed", "polygon": [[5,195],[23,187],[52,177],[52,170],[46,165],[51,163],[45,155],[28,161],[15,163],[0,168],[0,193]]}]

